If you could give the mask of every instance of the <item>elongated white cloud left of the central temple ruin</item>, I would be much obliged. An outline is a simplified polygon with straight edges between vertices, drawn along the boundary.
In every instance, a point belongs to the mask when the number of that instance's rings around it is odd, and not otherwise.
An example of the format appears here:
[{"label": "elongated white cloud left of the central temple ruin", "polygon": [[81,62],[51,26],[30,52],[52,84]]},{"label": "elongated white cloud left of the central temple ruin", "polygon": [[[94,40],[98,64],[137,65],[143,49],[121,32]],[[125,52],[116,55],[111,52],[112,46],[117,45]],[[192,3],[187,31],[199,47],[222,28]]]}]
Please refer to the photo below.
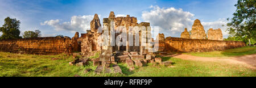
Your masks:
[{"label": "elongated white cloud left of the central temple ruin", "polygon": [[60,23],[60,20],[56,19],[46,20],[40,24],[54,27],[56,31],[86,32],[90,28],[90,21],[93,17],[93,15],[72,16],[70,22]]}]

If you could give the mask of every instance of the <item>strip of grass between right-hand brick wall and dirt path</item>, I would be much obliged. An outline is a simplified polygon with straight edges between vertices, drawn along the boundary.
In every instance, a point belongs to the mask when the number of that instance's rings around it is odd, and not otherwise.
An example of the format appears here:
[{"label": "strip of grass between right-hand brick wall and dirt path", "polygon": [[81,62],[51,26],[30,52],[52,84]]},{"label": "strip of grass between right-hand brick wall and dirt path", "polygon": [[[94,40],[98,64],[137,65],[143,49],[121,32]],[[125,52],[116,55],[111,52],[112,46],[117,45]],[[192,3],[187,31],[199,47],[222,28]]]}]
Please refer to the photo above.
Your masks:
[{"label": "strip of grass between right-hand brick wall and dirt path", "polygon": [[256,53],[256,47],[246,46],[242,48],[228,49],[224,51],[189,52],[184,54],[200,56],[200,57],[232,57],[232,56],[251,55],[255,53]]}]

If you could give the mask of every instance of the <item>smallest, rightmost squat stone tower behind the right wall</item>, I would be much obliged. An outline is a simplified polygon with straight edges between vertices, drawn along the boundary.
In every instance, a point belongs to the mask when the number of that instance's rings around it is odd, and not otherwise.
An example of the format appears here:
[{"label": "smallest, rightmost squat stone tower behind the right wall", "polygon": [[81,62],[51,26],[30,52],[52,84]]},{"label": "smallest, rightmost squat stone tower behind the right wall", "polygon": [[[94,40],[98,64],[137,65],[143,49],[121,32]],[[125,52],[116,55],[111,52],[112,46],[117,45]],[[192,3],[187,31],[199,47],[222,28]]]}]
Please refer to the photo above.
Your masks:
[{"label": "smallest, rightmost squat stone tower behind the right wall", "polygon": [[210,28],[207,33],[207,38],[209,40],[223,40],[221,29],[213,30],[213,28]]}]

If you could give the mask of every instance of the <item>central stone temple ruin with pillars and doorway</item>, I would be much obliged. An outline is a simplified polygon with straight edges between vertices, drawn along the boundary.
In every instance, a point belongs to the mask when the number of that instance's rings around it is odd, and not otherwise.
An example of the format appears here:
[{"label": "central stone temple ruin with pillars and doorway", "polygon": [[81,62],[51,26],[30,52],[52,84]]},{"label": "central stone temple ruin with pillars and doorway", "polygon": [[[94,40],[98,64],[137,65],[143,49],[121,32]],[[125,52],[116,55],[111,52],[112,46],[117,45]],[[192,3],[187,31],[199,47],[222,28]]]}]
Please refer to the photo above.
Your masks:
[{"label": "central stone temple ruin with pillars and doorway", "polygon": [[[142,43],[149,43],[148,41],[151,40],[151,34],[150,28],[147,28],[150,26],[150,23],[142,22],[137,23],[137,18],[130,17],[130,15],[127,15],[126,17],[115,17],[114,12],[110,12],[109,18],[103,19],[103,26],[108,29],[102,29],[100,20],[98,18],[98,15],[95,14],[92,22],[90,22],[90,30],[87,31],[87,33],[81,33],[80,41],[81,41],[81,52],[84,56],[93,56],[96,52],[100,53],[100,58],[94,60],[94,63],[100,62],[108,62],[108,63],[117,63],[117,62],[133,62],[129,61],[131,58],[136,58],[135,64],[138,66],[142,66],[142,63],[147,63],[148,60],[151,60],[155,55],[154,53],[148,53],[147,46],[141,45]],[[113,26],[113,27],[112,27]],[[129,29],[129,26],[138,28],[143,28],[145,31],[139,31],[136,36],[136,32],[133,29]],[[119,30],[119,27],[125,27],[126,30]],[[114,30],[113,30],[114,29]],[[128,29],[130,30],[129,32]],[[114,32],[113,32],[114,31]],[[149,33],[147,33],[149,32]],[[104,35],[104,33],[107,33],[109,35]],[[114,33],[114,36],[111,36],[111,33]],[[128,34],[129,33],[129,34]],[[122,34],[127,34],[127,39],[124,39]],[[146,36],[141,36],[142,34],[145,34]],[[100,37],[100,36],[104,37]],[[128,37],[128,35],[132,35],[133,37]],[[150,37],[148,37],[150,36]],[[114,45],[111,45],[110,42],[111,39],[116,39],[120,37],[120,40],[127,41],[123,45],[116,45],[114,41]],[[131,39],[129,39],[131,38]],[[97,41],[104,42],[102,40],[106,39],[107,45],[99,45]],[[164,36],[162,37],[164,39]],[[161,39],[161,40],[162,40]],[[129,40],[133,41],[139,41],[138,45],[135,45],[135,42],[129,43]],[[129,45],[132,44],[132,45]],[[147,56],[147,57],[146,57]],[[139,64],[138,64],[139,63]],[[131,65],[131,64],[129,64]],[[131,68],[133,69],[133,68]]]}]

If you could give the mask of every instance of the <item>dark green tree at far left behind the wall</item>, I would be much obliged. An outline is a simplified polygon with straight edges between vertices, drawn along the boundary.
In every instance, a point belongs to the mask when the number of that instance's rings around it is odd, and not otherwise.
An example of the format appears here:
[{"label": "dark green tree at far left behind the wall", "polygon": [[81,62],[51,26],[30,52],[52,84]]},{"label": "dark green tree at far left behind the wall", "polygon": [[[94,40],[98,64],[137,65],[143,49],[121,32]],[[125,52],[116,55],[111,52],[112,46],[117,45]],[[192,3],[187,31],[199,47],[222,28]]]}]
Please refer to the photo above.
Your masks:
[{"label": "dark green tree at far left behind the wall", "polygon": [[0,39],[19,39],[19,20],[11,19],[10,17],[5,18],[5,23],[3,27],[0,27],[0,32],[2,32],[2,36]]}]

